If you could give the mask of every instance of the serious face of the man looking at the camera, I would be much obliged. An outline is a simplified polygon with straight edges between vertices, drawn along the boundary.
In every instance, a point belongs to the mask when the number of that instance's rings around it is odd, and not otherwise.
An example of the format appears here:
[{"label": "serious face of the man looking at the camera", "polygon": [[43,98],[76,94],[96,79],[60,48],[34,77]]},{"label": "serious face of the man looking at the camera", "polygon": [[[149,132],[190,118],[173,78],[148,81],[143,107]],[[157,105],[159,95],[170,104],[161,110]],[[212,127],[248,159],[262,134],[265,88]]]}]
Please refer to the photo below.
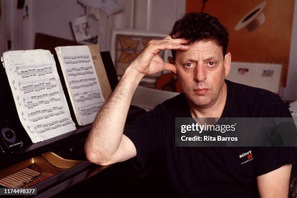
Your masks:
[{"label": "serious face of the man looking at the camera", "polygon": [[177,50],[177,78],[190,105],[212,106],[222,95],[224,79],[229,73],[231,54],[213,40],[198,41],[186,51]]}]

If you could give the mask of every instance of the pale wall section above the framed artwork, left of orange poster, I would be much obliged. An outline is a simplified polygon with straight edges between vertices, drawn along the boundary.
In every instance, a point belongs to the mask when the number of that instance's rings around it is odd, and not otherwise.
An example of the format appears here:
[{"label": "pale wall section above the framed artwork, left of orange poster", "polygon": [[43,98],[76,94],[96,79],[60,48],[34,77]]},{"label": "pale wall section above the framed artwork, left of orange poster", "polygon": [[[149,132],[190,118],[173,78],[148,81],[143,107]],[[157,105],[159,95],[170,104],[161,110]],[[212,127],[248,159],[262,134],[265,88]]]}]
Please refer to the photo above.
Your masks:
[{"label": "pale wall section above the framed artwork, left of orange poster", "polygon": [[87,8],[87,13],[99,18],[101,51],[110,50],[111,31],[115,29],[146,30],[169,33],[177,18],[185,12],[185,0],[125,0],[125,11],[112,17]]}]

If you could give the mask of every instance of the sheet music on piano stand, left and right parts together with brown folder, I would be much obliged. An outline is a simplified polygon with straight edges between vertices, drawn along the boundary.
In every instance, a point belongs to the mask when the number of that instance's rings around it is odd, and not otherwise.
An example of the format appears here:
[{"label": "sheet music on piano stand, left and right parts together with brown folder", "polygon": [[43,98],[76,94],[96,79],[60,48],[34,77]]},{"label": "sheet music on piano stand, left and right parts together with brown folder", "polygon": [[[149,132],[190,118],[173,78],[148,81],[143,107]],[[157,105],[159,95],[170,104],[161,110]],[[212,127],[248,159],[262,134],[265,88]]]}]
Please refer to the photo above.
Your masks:
[{"label": "sheet music on piano stand, left and right parts together with brown folder", "polygon": [[[99,46],[57,47],[56,51],[76,121],[92,123],[111,93]],[[1,61],[19,120],[33,143],[76,129],[49,50],[8,51]]]}]

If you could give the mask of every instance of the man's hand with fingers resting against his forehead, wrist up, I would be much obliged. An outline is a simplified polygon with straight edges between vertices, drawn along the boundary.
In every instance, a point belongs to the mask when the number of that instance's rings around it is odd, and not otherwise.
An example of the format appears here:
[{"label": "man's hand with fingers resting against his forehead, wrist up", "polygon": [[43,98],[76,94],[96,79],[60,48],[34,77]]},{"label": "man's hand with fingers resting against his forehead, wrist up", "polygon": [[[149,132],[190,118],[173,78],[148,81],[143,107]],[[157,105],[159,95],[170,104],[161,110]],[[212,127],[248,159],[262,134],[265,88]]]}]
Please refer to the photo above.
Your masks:
[{"label": "man's hand with fingers resting against his forehead, wrist up", "polygon": [[163,40],[151,40],[129,67],[132,67],[143,75],[152,75],[163,70],[176,73],[176,67],[170,63],[165,63],[159,53],[165,49],[187,50],[189,47],[183,45],[186,43],[188,41],[185,39],[174,39],[171,36],[167,36]]}]

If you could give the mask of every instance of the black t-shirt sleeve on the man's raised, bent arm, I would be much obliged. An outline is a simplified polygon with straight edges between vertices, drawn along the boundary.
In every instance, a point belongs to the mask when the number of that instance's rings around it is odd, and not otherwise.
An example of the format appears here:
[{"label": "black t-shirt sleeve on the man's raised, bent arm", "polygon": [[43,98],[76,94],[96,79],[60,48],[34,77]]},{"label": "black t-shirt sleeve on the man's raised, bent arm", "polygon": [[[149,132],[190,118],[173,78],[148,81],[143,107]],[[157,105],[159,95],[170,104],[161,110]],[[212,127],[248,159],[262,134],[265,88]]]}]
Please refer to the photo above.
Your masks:
[{"label": "black t-shirt sleeve on the man's raised, bent arm", "polygon": [[134,166],[138,169],[142,169],[150,157],[160,154],[162,129],[160,114],[161,108],[158,105],[152,111],[138,116],[131,126],[124,129],[124,134],[136,148]]}]

